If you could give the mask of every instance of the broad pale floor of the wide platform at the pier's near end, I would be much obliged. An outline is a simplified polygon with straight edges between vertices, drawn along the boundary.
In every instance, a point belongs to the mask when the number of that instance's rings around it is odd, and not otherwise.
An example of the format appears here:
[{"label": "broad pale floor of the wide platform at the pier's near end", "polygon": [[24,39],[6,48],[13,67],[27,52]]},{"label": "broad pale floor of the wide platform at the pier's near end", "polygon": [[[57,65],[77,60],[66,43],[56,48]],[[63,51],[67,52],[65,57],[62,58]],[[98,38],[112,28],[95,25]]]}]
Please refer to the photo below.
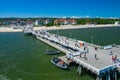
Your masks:
[{"label": "broad pale floor of the wide platform at the pier's near end", "polygon": [[[95,54],[97,55],[98,59],[95,59]],[[83,55],[84,57],[84,55]],[[90,64],[91,66],[96,67],[97,69],[101,69],[110,65],[113,65],[112,57],[109,54],[109,51],[98,49],[97,51],[94,50],[93,47],[89,46],[89,53],[86,53],[87,60],[84,58],[81,58],[79,56],[76,56],[77,59],[80,59],[84,61],[87,64]]]}]

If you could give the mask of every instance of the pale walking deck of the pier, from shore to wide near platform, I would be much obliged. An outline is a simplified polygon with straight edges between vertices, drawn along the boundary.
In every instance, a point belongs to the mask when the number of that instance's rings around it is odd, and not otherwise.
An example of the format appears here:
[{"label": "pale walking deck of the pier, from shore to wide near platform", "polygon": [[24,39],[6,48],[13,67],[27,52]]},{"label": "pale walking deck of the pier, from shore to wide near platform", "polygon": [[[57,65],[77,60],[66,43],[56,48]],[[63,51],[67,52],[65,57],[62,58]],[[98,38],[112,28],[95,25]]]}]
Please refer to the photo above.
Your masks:
[{"label": "pale walking deck of the pier, from shore to wide near platform", "polygon": [[[45,39],[43,38],[43,35],[41,35],[41,37],[37,37],[37,38],[39,40],[49,44],[50,46],[53,46],[53,47],[63,51],[73,61],[82,65],[83,67],[86,67],[88,70],[91,70],[92,72],[94,72],[96,74],[100,74],[101,71],[109,71],[111,69],[114,69],[118,65],[118,63],[112,62],[112,56],[113,55],[110,55],[111,51],[113,52],[114,55],[117,55],[118,59],[120,59],[120,54],[119,54],[120,47],[113,47],[112,49],[108,49],[108,50],[98,48],[97,50],[95,50],[95,48],[93,46],[87,45],[87,48],[89,49],[89,52],[86,53],[86,58],[87,59],[85,59],[84,54],[81,54],[81,57],[80,57],[80,55],[70,57],[69,53],[72,54],[72,53],[74,53],[74,51],[66,49],[66,48],[64,48],[60,45],[60,44],[62,44],[62,45],[67,45],[68,46],[67,43],[69,43],[70,47],[75,48],[74,45],[76,43],[76,40],[67,39],[66,37],[61,37],[61,36],[56,37],[56,35],[53,35],[53,34],[49,34],[49,36],[48,36],[48,34],[44,35]],[[53,41],[55,41],[55,42],[53,42]],[[60,44],[57,44],[56,43],[57,41]],[[78,50],[82,50],[82,49],[83,48],[78,49]],[[95,54],[97,55],[97,59],[95,58]]]}]

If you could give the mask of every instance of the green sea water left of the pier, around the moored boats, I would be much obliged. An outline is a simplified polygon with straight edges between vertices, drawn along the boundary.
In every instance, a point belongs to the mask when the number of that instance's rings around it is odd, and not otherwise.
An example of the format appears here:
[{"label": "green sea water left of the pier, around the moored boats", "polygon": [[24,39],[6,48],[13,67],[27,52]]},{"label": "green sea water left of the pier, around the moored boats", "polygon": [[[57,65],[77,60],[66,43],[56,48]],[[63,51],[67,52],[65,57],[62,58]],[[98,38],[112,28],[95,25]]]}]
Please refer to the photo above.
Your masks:
[{"label": "green sea water left of the pier, around the moored boats", "polygon": [[0,80],[93,80],[87,74],[79,77],[77,67],[68,71],[57,68],[46,49],[55,50],[22,32],[0,33]]}]

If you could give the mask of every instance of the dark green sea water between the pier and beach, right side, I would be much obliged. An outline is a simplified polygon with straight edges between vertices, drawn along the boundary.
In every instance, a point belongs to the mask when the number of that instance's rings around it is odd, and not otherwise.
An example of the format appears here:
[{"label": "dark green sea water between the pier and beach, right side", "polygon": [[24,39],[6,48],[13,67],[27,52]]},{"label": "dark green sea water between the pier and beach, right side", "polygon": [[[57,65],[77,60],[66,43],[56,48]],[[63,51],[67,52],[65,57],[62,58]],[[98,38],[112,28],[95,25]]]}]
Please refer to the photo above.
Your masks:
[{"label": "dark green sea water between the pier and beach, right side", "polygon": [[[110,44],[120,45],[120,27],[82,28],[69,30],[50,31],[58,35],[86,41],[89,43],[105,46]],[[93,38],[93,41],[91,40]]]}]

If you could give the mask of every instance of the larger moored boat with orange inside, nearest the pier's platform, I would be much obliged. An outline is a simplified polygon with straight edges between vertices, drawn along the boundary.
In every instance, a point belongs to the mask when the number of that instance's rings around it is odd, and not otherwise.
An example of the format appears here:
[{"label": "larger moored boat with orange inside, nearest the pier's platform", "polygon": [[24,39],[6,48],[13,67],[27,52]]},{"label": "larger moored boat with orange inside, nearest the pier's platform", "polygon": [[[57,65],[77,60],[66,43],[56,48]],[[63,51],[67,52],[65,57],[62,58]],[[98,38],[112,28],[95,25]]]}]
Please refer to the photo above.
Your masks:
[{"label": "larger moored boat with orange inside, nearest the pier's platform", "polygon": [[53,58],[51,60],[51,62],[59,68],[62,68],[62,69],[67,69],[68,68],[68,65],[59,58]]}]

